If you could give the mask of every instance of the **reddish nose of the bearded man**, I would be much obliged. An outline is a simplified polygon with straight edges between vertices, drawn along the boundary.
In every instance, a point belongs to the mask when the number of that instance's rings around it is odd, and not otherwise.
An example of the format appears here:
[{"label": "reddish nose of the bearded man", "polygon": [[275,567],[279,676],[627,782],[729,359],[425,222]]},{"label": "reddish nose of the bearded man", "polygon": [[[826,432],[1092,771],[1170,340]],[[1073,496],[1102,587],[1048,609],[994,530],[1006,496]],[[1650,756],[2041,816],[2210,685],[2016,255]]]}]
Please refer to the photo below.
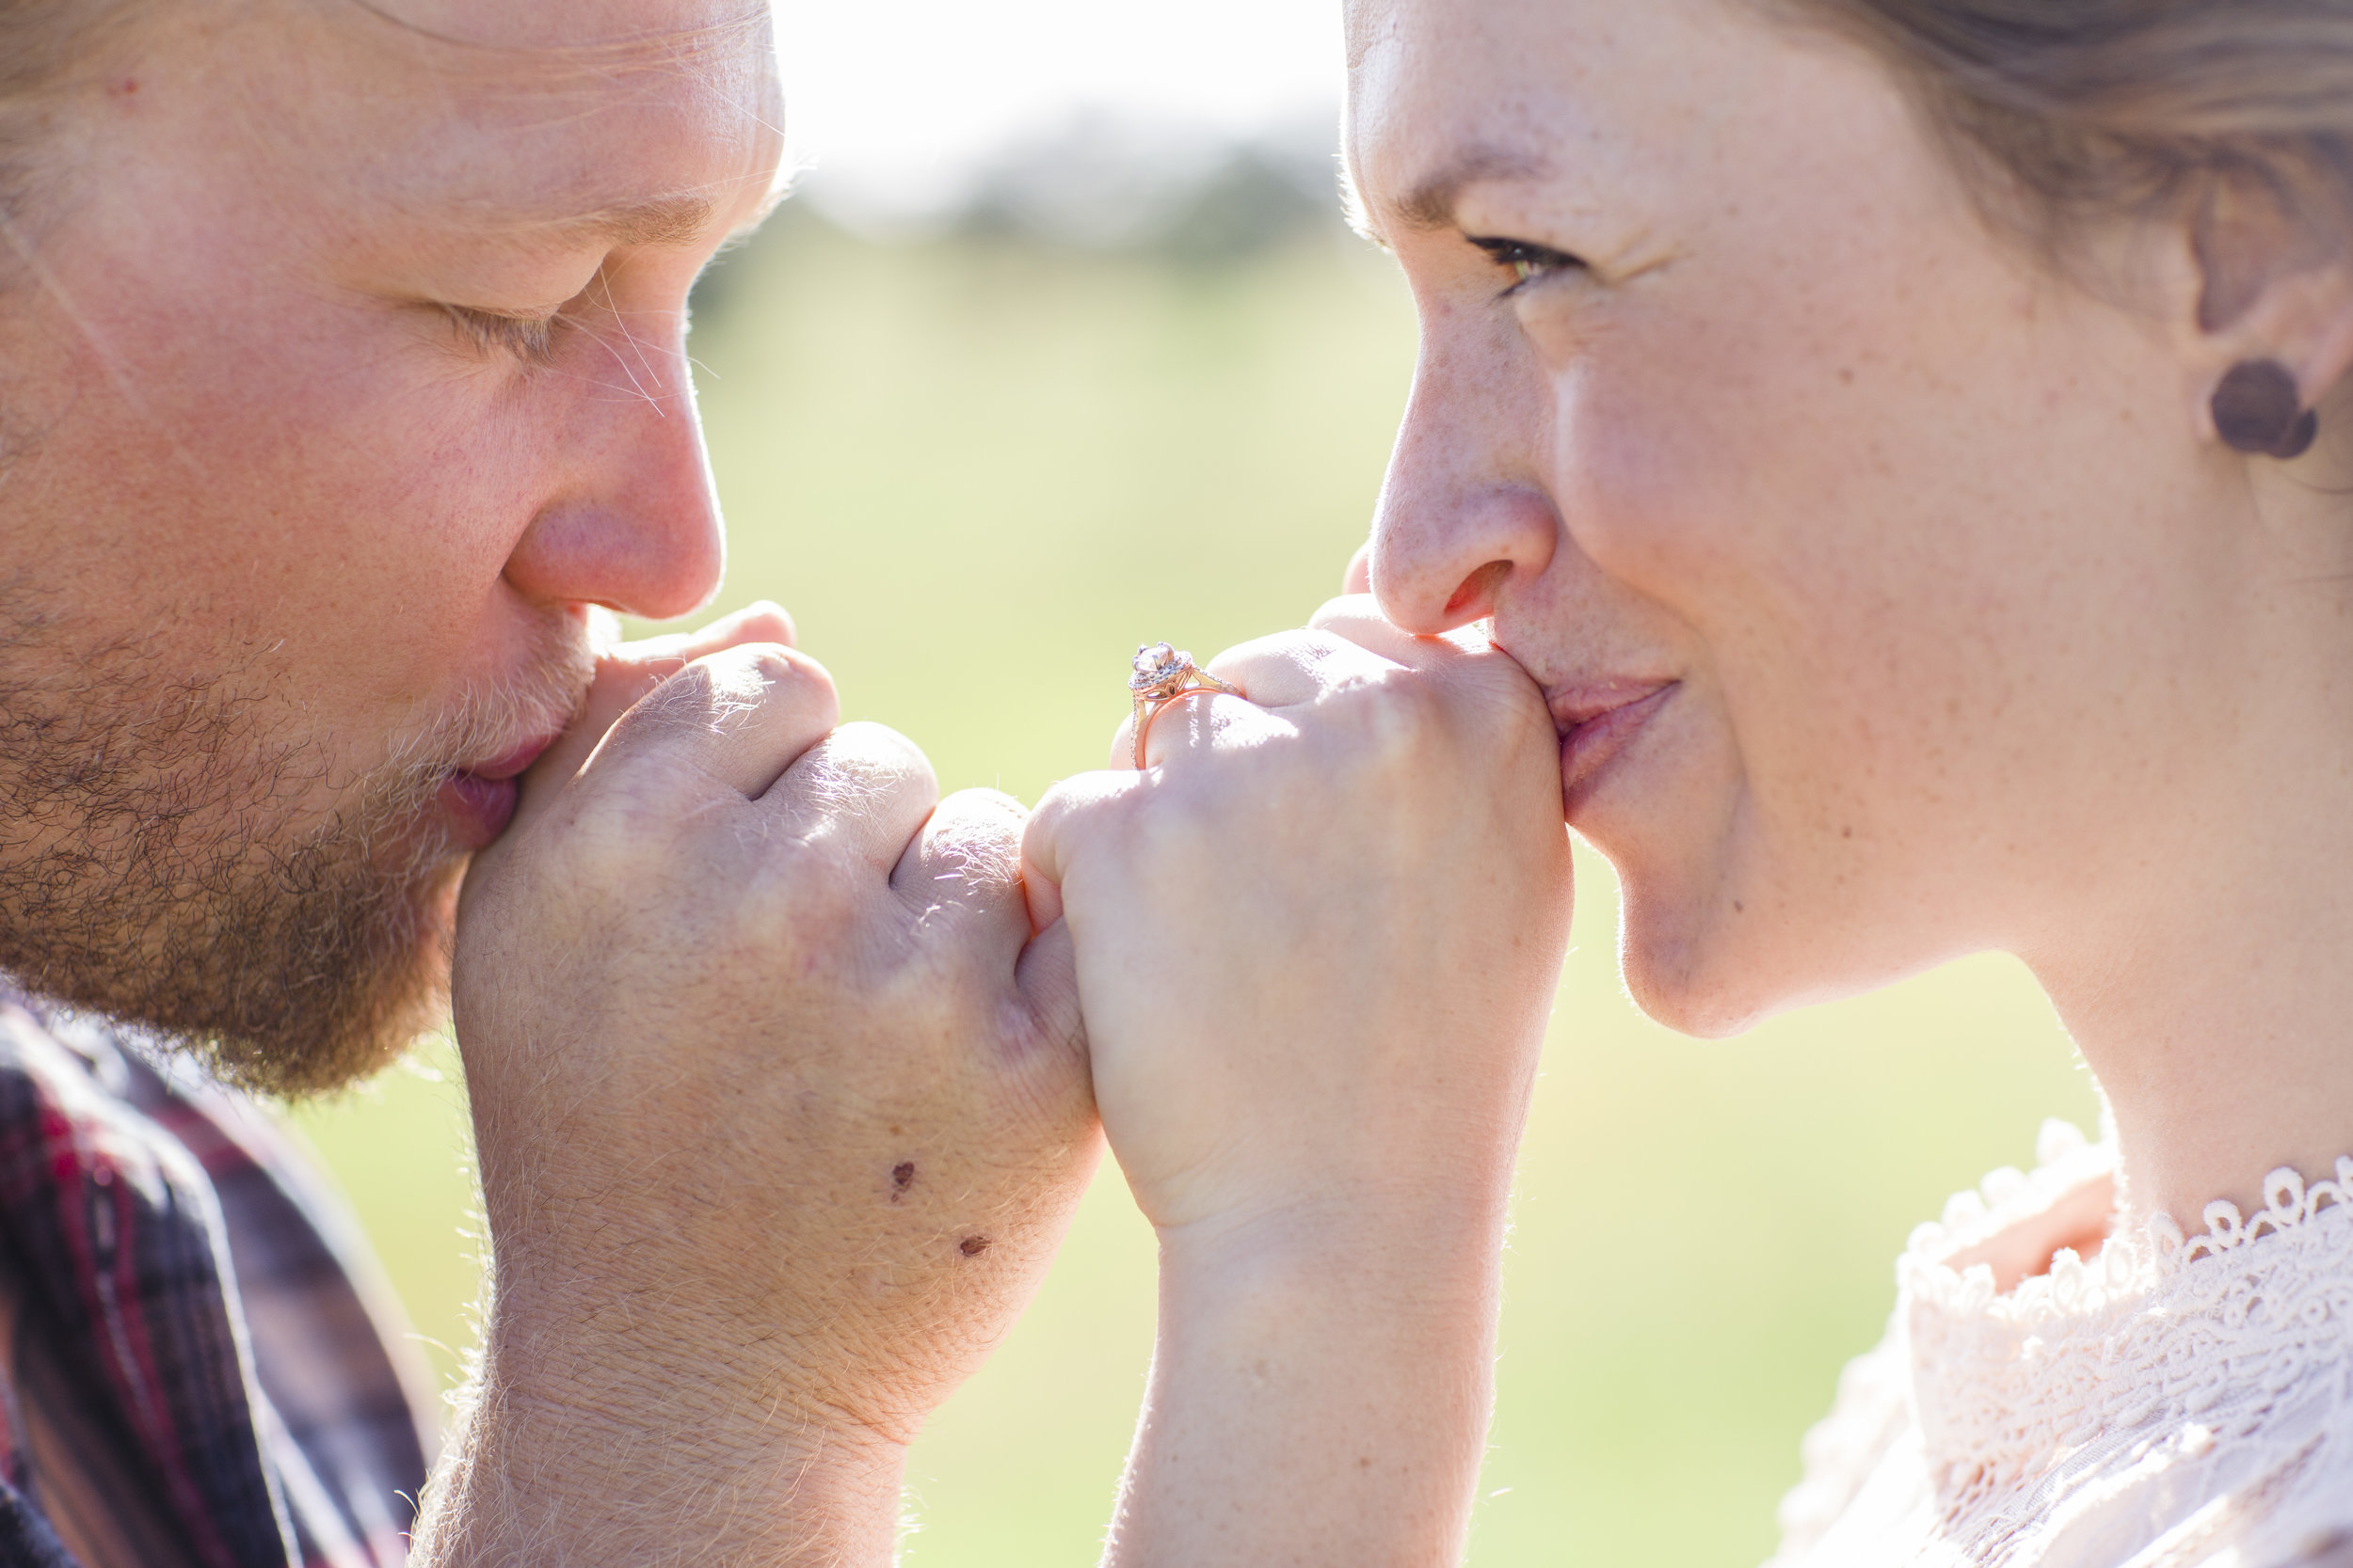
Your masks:
[{"label": "reddish nose of the bearded man", "polygon": [[718,592],[727,541],[685,331],[647,339],[640,322],[576,371],[586,390],[565,400],[551,433],[567,480],[506,562],[506,581],[527,599],[671,621]]}]

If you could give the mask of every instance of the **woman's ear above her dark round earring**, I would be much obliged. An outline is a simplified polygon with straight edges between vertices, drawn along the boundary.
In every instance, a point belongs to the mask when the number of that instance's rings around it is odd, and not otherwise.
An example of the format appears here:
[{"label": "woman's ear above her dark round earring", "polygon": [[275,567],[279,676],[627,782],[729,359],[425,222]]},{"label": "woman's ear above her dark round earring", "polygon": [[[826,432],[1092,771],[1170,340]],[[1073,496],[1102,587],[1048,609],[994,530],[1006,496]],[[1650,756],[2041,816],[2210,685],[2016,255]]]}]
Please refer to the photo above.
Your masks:
[{"label": "woman's ear above her dark round earring", "polygon": [[2315,407],[2353,369],[2353,223],[2257,174],[2224,174],[2191,223],[2195,357],[2205,393],[2245,360],[2278,360]]}]

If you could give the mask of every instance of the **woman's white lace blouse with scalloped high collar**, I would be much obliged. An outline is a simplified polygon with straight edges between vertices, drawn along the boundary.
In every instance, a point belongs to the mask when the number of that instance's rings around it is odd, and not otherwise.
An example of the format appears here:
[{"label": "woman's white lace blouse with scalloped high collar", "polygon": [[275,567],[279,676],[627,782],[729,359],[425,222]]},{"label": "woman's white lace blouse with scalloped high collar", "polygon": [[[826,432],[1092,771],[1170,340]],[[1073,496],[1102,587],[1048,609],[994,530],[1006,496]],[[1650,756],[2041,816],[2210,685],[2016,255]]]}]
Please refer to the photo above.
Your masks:
[{"label": "woman's white lace blouse with scalloped high collar", "polygon": [[[1908,1528],[2000,1568],[2040,1561],[2035,1542],[2078,1502],[2193,1495],[2202,1483],[2160,1476],[2224,1453],[2245,1469],[2249,1446],[2306,1450],[2313,1434],[2334,1434],[2334,1458],[2280,1500],[2278,1523],[2353,1537],[2353,1159],[2332,1180],[2273,1171],[2254,1218],[2217,1201],[2198,1237],[2158,1218],[2089,1262],[2059,1251],[2002,1293],[1967,1253],[2038,1218],[2061,1234],[2080,1213],[2054,1211],[2115,1175],[2113,1147],[2064,1121],[2035,1152],[2033,1173],[1995,1171],[1913,1232],[1889,1340],[1849,1366],[1807,1434],[1774,1563],[1812,1561],[1882,1465],[1918,1500]],[[2165,1512],[2155,1493],[2146,1507]],[[1887,1547],[1885,1561],[1913,1561],[1920,1537]]]}]

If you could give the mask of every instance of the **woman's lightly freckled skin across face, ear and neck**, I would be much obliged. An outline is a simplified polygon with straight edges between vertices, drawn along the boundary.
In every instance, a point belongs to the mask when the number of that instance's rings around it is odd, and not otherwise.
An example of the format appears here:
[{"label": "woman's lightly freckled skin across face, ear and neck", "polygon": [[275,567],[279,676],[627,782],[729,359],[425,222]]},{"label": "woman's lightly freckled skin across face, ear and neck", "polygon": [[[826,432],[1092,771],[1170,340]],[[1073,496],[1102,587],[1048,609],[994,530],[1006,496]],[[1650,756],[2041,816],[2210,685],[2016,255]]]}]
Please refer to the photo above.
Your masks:
[{"label": "woman's lightly freckled skin across face, ear and neck", "polygon": [[[1355,0],[1348,49],[1424,327],[1360,571],[1551,696],[1673,684],[1572,813],[1642,1009],[1725,1034],[2007,950],[2134,1201],[2353,1147],[2337,242],[2231,207],[2054,266],[1875,56],[1737,0]],[[2242,360],[2308,454],[2217,440]]]}]

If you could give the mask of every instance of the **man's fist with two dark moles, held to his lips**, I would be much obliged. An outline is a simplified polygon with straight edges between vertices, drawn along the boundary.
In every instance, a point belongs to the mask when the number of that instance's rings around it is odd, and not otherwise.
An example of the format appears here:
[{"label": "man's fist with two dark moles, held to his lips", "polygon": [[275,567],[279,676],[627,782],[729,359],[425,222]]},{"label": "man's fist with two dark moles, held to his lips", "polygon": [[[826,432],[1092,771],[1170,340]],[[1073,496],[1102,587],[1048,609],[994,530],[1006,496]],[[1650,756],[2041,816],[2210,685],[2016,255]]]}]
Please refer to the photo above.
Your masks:
[{"label": "man's fist with two dark moles, held to his lips", "polygon": [[904,1443],[1092,1173],[1071,952],[1012,799],[941,802],[788,646],[692,651],[605,670],[466,879],[489,1354],[699,1441]]}]

